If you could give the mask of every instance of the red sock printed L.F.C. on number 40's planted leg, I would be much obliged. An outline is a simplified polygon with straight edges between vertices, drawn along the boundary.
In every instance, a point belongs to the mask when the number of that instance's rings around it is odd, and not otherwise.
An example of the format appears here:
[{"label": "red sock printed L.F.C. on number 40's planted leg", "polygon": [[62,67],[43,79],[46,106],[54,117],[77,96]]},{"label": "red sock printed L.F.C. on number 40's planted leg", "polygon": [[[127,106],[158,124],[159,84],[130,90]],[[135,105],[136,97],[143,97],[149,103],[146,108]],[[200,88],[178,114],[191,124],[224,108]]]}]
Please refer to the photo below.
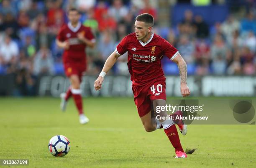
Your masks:
[{"label": "red sock printed L.F.C. on number 40's planted leg", "polygon": [[179,135],[178,135],[175,124],[166,128],[164,130],[164,132],[166,133],[167,137],[169,138],[170,142],[172,143],[172,146],[175,148],[175,151],[180,150],[180,151],[184,152],[184,150],[182,149],[182,145],[180,144],[180,141],[179,141]]}]

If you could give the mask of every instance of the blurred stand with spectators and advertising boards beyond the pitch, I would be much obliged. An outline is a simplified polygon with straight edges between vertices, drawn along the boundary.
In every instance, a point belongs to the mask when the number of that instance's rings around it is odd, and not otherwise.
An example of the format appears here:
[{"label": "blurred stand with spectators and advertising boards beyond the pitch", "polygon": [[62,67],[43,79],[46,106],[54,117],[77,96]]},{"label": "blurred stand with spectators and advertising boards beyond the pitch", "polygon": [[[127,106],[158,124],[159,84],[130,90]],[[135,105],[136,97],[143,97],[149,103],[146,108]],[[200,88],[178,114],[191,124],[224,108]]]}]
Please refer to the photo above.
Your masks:
[{"label": "blurred stand with spectators and advertising boards beyond the pitch", "polygon": [[[87,48],[84,97],[132,96],[127,56],[101,92],[93,82],[140,13],[152,14],[154,33],[184,57],[192,96],[255,96],[255,0],[0,0],[0,96],[59,97],[67,89],[55,38],[70,7],[97,37],[97,47]],[[162,67],[167,96],[180,96],[177,65],[166,57]]]}]

